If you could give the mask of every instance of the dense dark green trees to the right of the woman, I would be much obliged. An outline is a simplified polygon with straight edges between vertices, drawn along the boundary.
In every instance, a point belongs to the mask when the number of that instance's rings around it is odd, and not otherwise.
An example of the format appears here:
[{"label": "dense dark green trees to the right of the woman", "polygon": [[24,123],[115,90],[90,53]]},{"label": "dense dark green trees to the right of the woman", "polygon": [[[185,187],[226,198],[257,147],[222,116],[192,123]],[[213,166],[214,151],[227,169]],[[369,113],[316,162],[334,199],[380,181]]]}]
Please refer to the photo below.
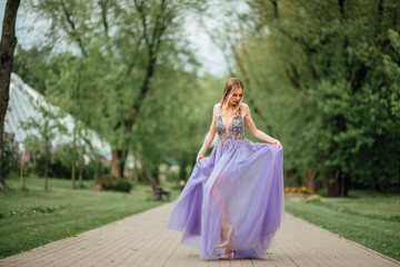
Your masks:
[{"label": "dense dark green trees to the right of the woman", "polygon": [[330,195],[347,195],[349,182],[399,185],[400,2],[248,4],[234,68],[282,137],[292,182],[313,174]]}]

